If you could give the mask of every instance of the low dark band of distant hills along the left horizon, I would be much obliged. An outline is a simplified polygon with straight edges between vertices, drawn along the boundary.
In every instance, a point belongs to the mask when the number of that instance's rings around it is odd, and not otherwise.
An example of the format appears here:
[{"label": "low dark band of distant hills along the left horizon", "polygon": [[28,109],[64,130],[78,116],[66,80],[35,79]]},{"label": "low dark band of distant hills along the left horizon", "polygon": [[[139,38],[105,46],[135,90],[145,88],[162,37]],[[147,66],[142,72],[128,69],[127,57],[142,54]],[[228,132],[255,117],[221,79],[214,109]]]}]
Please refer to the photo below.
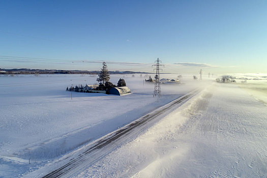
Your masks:
[{"label": "low dark band of distant hills along the left horizon", "polygon": [[[99,74],[99,71],[51,70],[51,69],[1,69],[1,74]],[[147,72],[109,71],[110,74],[141,74]]]}]

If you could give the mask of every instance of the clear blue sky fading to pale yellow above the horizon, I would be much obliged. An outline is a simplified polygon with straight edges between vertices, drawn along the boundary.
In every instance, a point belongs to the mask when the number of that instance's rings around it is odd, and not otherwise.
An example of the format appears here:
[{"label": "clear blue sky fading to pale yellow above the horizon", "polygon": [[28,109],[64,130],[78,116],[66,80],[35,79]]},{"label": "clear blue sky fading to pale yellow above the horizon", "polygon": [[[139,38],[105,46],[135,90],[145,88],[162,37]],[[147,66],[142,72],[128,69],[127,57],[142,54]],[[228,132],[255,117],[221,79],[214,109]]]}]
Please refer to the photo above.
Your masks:
[{"label": "clear blue sky fading to pale yellow above the horizon", "polygon": [[109,70],[151,72],[159,57],[164,72],[267,73],[266,9],[267,1],[0,1],[0,68],[99,70],[106,61]]}]

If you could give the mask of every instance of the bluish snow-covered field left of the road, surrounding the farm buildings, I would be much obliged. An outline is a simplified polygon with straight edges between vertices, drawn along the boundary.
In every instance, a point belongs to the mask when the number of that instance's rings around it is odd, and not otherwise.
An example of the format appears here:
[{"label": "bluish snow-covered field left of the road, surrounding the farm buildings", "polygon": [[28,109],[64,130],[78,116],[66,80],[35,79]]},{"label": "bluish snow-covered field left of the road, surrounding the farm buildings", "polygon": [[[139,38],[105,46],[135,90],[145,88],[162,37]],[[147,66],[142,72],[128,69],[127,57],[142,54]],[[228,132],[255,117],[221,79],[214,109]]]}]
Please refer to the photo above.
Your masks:
[{"label": "bluish snow-covered field left of the road, surrounding the farm buildings", "polygon": [[113,83],[125,78],[132,93],[73,93],[71,100],[71,93],[65,91],[71,84],[94,84],[96,78],[0,76],[0,176],[14,177],[34,170],[179,98],[199,83],[185,77],[182,81],[186,84],[162,85],[162,97],[153,98],[154,84],[144,83],[144,75],[111,75]]}]

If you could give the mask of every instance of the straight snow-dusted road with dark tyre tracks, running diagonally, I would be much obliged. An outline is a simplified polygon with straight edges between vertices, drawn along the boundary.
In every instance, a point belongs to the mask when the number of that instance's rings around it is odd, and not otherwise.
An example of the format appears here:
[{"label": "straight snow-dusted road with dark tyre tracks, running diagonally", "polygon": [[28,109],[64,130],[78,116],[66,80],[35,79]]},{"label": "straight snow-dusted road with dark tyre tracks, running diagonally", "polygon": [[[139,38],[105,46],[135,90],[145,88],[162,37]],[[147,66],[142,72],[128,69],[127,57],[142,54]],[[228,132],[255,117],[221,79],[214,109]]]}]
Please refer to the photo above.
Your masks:
[{"label": "straight snow-dusted road with dark tyre tracks, running diagonally", "polygon": [[193,91],[184,95],[150,114],[139,118],[137,121],[82,147],[74,153],[27,174],[26,177],[70,177],[76,175],[108,153],[117,149],[123,143],[136,138],[138,134],[144,132],[169,112],[181,106],[196,95],[197,92],[199,91]]}]

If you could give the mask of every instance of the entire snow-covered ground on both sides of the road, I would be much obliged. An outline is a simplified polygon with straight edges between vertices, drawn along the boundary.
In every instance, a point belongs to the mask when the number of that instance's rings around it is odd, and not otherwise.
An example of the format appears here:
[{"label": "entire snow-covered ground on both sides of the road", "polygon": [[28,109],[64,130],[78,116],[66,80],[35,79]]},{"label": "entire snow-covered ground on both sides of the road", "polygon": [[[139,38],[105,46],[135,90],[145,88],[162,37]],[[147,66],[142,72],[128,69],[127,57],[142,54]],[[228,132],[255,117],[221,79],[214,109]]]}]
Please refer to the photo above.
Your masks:
[{"label": "entire snow-covered ground on both sides of the road", "polygon": [[143,76],[111,75],[132,93],[73,93],[71,100],[65,91],[96,78],[0,76],[0,177],[27,175],[195,88],[202,91],[76,177],[266,177],[266,80],[230,84],[188,75],[153,98],[154,85]]}]

